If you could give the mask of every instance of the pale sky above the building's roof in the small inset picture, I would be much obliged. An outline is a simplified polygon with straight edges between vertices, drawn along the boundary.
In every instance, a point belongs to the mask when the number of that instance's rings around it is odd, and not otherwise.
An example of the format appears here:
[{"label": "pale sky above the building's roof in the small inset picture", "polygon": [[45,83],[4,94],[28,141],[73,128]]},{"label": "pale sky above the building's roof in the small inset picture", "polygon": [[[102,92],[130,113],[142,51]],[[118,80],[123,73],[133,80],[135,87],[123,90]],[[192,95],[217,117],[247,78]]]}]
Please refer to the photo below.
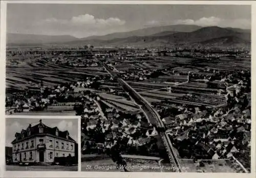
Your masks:
[{"label": "pale sky above the building's roof in the small inset picture", "polygon": [[[6,118],[6,146],[12,147],[11,142],[15,139],[15,133],[27,129],[39,123],[39,119],[26,118]],[[70,137],[75,141],[78,137],[78,119],[42,119],[42,123],[51,128],[58,127],[59,131],[69,131]]]}]

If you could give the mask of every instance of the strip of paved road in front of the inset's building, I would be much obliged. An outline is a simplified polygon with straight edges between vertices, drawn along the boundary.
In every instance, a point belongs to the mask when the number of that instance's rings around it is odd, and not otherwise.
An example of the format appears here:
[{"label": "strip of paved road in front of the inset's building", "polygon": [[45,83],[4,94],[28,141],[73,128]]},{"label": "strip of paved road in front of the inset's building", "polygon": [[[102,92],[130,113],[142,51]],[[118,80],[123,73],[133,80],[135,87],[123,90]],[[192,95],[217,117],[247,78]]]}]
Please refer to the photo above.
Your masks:
[{"label": "strip of paved road in front of the inset's building", "polygon": [[19,166],[6,165],[7,171],[78,171],[78,166]]}]

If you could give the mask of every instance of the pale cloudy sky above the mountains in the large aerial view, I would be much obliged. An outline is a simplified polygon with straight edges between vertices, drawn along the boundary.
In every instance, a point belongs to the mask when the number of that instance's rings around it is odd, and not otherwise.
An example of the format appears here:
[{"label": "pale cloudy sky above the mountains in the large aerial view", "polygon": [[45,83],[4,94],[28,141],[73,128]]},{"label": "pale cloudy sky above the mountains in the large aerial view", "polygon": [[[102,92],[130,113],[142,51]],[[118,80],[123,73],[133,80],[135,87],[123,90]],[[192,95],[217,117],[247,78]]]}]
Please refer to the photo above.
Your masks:
[{"label": "pale cloudy sky above the mountains in the large aerial view", "polygon": [[77,38],[173,24],[250,29],[248,5],[8,4],[7,32]]}]

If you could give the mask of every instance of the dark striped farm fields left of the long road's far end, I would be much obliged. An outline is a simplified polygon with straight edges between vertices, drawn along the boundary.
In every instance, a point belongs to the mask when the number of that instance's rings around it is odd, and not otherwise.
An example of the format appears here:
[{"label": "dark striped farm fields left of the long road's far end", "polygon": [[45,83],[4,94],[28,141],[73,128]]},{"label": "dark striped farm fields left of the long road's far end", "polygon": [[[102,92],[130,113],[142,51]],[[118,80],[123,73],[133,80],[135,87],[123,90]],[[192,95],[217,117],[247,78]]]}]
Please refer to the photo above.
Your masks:
[{"label": "dark striped farm fields left of the long road's far end", "polygon": [[93,68],[73,68],[54,63],[43,62],[37,63],[21,63],[15,67],[6,67],[6,87],[14,89],[25,88],[28,82],[38,84],[40,81],[45,85],[54,86],[56,84],[64,84],[66,82],[76,82],[84,80],[89,76],[109,75],[106,71]]}]

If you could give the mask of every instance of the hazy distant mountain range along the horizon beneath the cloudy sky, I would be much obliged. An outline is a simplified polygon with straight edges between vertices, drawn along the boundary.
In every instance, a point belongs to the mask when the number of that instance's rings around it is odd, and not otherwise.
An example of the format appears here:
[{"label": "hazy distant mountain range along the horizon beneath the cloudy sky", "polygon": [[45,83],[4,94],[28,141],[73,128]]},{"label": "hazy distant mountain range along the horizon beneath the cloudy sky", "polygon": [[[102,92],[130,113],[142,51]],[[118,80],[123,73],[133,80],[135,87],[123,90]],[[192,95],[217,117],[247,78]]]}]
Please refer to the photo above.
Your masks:
[{"label": "hazy distant mountain range along the horizon beneath the cloudy sky", "polygon": [[251,42],[250,30],[220,27],[200,27],[190,25],[161,26],[113,33],[104,36],[75,38],[69,35],[47,36],[8,34],[7,45],[86,45],[96,46],[248,46]]}]

